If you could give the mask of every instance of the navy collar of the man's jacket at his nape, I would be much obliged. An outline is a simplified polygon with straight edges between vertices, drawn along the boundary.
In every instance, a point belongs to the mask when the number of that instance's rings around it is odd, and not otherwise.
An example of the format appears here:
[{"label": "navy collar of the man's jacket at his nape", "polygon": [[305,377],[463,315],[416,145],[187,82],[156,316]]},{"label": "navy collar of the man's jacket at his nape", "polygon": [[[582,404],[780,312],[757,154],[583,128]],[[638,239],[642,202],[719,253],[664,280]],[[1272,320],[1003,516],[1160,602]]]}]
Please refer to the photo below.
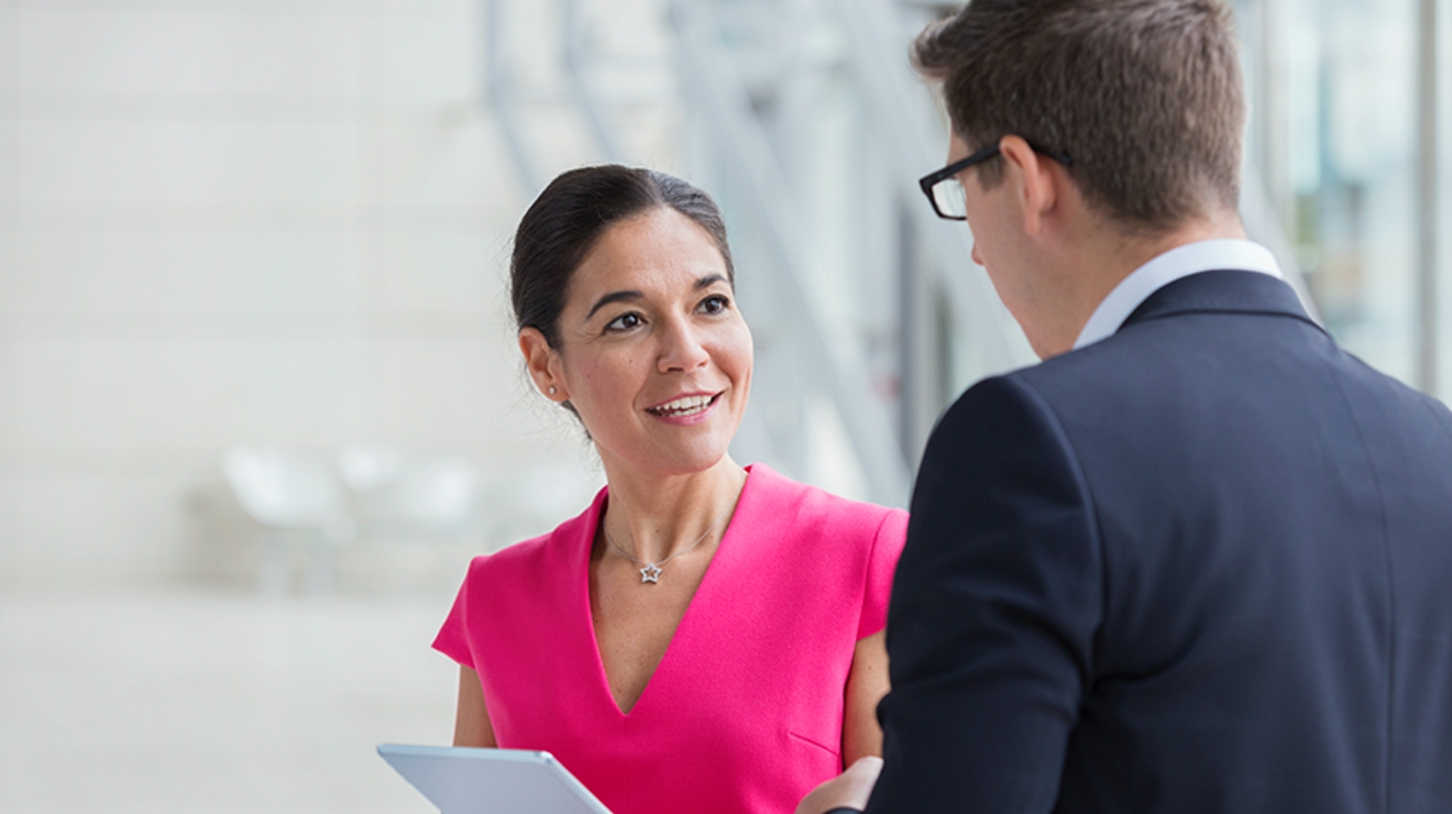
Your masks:
[{"label": "navy collar of the man's jacket at his nape", "polygon": [[1291,316],[1321,329],[1301,306],[1295,289],[1284,280],[1256,271],[1234,270],[1201,271],[1162,287],[1140,303],[1119,329],[1180,313]]}]

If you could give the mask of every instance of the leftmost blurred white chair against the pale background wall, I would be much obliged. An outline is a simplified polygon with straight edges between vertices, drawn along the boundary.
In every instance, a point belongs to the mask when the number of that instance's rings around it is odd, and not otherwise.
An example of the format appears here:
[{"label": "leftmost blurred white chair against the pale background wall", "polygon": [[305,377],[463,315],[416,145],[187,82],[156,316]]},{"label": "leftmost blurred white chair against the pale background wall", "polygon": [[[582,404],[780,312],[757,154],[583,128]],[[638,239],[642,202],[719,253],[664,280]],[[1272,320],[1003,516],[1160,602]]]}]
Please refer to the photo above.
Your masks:
[{"label": "leftmost blurred white chair against the pale background wall", "polygon": [[222,472],[242,511],[263,527],[258,589],[269,596],[286,593],[286,544],[301,538],[308,550],[308,592],[331,593],[334,551],[357,528],[333,467],[308,453],[237,447],[222,457]]}]

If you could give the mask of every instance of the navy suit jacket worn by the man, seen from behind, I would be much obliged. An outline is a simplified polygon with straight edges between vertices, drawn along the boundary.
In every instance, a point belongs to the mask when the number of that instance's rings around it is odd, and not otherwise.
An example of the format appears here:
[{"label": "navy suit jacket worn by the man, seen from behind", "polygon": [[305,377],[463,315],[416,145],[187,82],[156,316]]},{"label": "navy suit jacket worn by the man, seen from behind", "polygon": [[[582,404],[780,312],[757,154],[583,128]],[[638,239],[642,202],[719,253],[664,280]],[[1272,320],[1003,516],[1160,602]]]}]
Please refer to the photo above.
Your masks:
[{"label": "navy suit jacket worn by the man, seen from behind", "polygon": [[870,814],[1452,813],[1452,415],[1207,271],[928,444]]}]

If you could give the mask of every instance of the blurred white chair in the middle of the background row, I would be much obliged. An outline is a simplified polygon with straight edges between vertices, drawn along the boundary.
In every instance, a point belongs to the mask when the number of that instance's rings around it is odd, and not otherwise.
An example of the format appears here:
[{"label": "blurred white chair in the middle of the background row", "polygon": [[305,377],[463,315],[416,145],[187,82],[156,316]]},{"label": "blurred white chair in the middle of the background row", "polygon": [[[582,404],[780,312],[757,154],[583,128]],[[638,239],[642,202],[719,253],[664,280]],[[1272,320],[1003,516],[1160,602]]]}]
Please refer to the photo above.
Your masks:
[{"label": "blurred white chair in the middle of the background row", "polygon": [[484,477],[456,456],[350,445],[338,472],[367,537],[457,540],[482,535]]}]

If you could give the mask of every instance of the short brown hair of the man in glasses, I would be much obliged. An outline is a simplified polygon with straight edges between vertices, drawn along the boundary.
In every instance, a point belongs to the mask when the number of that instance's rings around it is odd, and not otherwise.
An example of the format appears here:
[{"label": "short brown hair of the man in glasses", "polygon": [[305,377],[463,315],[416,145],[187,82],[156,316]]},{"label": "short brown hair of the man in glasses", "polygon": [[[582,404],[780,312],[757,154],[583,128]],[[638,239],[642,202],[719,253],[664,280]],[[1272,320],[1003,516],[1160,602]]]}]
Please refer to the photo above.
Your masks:
[{"label": "short brown hair of the man in glasses", "polygon": [[[918,36],[913,62],[971,149],[1018,135],[1067,152],[1125,226],[1237,206],[1246,103],[1221,0],[973,0]],[[980,167],[999,183],[1002,161]]]}]

